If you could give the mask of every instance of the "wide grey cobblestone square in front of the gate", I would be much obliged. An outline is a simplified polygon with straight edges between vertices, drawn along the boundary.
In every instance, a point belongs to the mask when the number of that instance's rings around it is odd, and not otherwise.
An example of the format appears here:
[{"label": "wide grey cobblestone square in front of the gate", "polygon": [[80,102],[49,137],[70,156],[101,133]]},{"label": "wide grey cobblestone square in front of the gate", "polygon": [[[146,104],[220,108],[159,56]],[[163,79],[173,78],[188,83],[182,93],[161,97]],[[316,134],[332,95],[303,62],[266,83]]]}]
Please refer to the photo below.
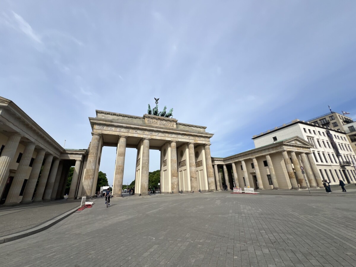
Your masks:
[{"label": "wide grey cobblestone square in front of the gate", "polygon": [[355,195],[112,199],[0,245],[6,266],[356,266]]}]

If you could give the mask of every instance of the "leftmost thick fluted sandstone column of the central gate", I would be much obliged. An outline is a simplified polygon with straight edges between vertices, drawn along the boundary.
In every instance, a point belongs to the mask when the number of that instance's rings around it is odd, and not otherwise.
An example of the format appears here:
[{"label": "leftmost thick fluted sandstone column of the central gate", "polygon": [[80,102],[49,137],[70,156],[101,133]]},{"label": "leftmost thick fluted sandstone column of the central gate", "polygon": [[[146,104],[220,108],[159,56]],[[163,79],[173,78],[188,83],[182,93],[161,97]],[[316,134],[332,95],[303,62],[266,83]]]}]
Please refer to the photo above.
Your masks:
[{"label": "leftmost thick fluted sandstone column of the central gate", "polygon": [[94,132],[92,132],[91,135],[93,137],[91,138],[88,162],[83,178],[82,197],[91,197],[91,188],[94,183],[96,161],[98,160],[99,142],[101,135]]}]

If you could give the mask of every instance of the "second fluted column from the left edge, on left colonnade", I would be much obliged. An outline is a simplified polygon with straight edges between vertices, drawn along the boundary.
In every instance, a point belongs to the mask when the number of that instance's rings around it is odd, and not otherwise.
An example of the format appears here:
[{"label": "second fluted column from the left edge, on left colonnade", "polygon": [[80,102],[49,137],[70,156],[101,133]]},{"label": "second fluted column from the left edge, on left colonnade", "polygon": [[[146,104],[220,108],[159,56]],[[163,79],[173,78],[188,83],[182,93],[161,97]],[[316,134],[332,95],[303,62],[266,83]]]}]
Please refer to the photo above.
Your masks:
[{"label": "second fluted column from the left edge, on left colonnade", "polygon": [[35,146],[36,145],[34,143],[28,143],[26,145],[25,150],[22,153],[19,166],[17,166],[14,179],[12,180],[9,193],[7,194],[5,205],[20,203],[19,195],[23,182],[25,181],[25,179],[28,179],[28,176],[30,175],[29,168],[31,167],[29,167],[29,165],[32,158],[33,150],[35,150]]}]

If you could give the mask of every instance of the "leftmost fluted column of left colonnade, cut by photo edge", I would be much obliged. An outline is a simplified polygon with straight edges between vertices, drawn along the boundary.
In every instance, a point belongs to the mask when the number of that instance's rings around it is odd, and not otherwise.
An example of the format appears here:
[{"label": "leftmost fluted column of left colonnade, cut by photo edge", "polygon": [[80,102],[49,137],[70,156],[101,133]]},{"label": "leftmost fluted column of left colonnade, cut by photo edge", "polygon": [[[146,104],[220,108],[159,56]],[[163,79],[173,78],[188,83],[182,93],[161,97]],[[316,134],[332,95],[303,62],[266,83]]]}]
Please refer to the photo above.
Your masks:
[{"label": "leftmost fluted column of left colonnade, cut by photo edge", "polygon": [[2,195],[2,192],[4,191],[5,184],[9,176],[10,162],[15,156],[20,139],[21,135],[19,135],[18,133],[11,135],[9,139],[7,139],[5,147],[2,150],[0,157],[0,197]]}]

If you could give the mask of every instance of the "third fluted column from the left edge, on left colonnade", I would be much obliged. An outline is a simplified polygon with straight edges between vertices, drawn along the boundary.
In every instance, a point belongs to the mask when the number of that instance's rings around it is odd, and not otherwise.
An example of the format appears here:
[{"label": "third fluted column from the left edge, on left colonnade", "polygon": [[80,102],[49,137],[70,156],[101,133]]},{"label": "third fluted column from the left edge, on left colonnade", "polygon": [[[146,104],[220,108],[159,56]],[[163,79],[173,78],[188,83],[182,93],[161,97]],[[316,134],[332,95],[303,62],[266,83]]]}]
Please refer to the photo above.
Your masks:
[{"label": "third fluted column from the left edge, on left colonnade", "polygon": [[23,191],[23,197],[21,203],[32,202],[33,192],[35,191],[38,176],[40,175],[43,158],[45,157],[45,150],[39,150],[37,156],[32,164],[30,177],[26,183],[25,191]]}]

